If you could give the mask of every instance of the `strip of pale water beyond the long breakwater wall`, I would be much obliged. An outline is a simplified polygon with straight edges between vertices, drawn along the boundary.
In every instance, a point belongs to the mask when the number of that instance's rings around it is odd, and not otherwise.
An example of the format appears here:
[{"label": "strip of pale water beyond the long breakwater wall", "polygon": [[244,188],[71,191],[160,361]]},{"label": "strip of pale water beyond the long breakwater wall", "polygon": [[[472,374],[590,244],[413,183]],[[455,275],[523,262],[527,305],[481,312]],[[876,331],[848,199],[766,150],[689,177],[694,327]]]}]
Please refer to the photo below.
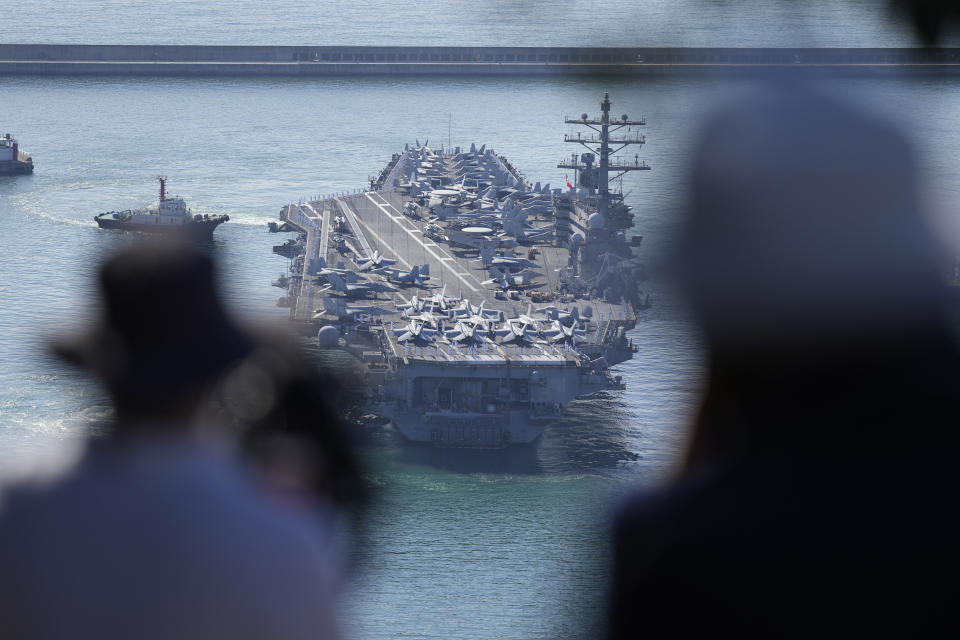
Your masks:
[{"label": "strip of pale water beyond the long breakwater wall", "polygon": [[4,40],[21,43],[914,45],[878,0],[4,0],[3,6]]}]

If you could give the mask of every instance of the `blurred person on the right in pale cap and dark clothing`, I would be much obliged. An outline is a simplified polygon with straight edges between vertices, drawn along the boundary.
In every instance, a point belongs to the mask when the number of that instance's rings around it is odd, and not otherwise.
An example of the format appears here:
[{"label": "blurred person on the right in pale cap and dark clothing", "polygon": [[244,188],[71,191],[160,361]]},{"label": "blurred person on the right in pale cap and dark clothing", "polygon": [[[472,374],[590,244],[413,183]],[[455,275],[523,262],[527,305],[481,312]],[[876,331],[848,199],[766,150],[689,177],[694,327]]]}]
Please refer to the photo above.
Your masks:
[{"label": "blurred person on the right in pale cap and dark clothing", "polygon": [[617,514],[609,635],[956,635],[960,359],[896,127],[809,83],[710,117],[678,238],[679,477]]}]

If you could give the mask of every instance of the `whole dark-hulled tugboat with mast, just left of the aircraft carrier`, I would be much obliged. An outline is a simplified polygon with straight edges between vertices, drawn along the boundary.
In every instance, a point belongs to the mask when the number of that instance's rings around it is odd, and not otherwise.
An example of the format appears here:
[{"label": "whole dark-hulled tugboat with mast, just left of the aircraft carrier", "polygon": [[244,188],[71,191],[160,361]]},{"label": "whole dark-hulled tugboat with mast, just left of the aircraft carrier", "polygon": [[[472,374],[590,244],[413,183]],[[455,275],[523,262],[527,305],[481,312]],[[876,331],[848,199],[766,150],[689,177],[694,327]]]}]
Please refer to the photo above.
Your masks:
[{"label": "whole dark-hulled tugboat with mast, just left of the aircraft carrier", "polygon": [[160,182],[160,203],[155,209],[108,211],[94,216],[94,221],[101,229],[187,234],[198,239],[209,240],[213,236],[213,230],[230,219],[227,215],[193,215],[183,198],[167,197],[166,176],[160,176],[157,180]]}]

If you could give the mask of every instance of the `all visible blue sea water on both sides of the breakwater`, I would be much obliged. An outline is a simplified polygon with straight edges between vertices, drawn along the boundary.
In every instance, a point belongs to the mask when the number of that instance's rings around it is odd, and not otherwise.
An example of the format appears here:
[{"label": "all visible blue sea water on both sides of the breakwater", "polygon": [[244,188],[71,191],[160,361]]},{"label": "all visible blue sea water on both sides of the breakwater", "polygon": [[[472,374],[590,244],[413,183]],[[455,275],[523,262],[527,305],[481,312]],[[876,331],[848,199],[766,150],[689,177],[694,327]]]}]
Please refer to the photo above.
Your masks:
[{"label": "all visible blue sea water on both sides of the breakwater", "polygon": [[[461,17],[438,24],[426,19],[438,20],[430,5],[409,3],[350,10],[298,1],[107,4],[111,19],[98,21],[107,12],[84,3],[16,3],[5,8],[6,38],[203,42],[212,32],[230,43],[418,44],[431,28],[432,44],[582,44],[597,24],[578,19],[583,4],[562,1],[502,3],[503,24],[482,20],[476,3],[445,3],[462,11],[448,8],[444,16]],[[873,15],[873,3],[816,11],[810,2],[760,4],[767,22],[748,33],[738,23],[740,4],[698,5],[717,19],[684,23],[668,20],[678,14],[665,2],[645,3],[639,21],[626,20],[640,13],[631,6],[600,3],[608,11],[604,24],[613,25],[604,27],[604,42],[722,45],[742,37],[736,44],[786,44],[776,41],[779,29],[806,25],[806,32],[791,31],[797,44],[836,44],[846,33],[850,44],[908,44],[887,22],[863,19]],[[773,20],[774,8],[787,11],[786,19]],[[670,29],[658,28],[667,22]],[[36,162],[33,176],[0,178],[0,468],[97,430],[108,414],[102,390],[45,356],[44,340],[89,319],[97,261],[129,242],[98,230],[93,215],[153,201],[156,175],[168,175],[170,190],[195,211],[231,216],[214,241],[228,303],[282,321],[285,311],[274,306],[281,292],[270,281],[286,260],[271,253],[278,237],[265,223],[301,196],[362,186],[405,142],[445,142],[449,114],[454,144],[486,142],[528,178],[555,186],[564,178],[557,161],[571,151],[562,143],[565,114],[596,111],[606,90],[616,113],[645,115],[642,156],[653,170],[629,176],[624,189],[645,236],[643,253],[656,262],[680,211],[698,116],[748,84],[0,78],[0,125]],[[955,228],[960,197],[958,84],[890,78],[835,85],[910,128],[945,230]],[[396,445],[365,452],[379,500],[347,607],[357,637],[585,637],[583,628],[601,614],[609,509],[628,489],[668,476],[699,382],[702,355],[687,314],[657,281],[651,288],[655,305],[632,334],[641,351],[618,367],[627,390],[573,403],[568,423],[546,432],[537,447],[506,456]]]}]

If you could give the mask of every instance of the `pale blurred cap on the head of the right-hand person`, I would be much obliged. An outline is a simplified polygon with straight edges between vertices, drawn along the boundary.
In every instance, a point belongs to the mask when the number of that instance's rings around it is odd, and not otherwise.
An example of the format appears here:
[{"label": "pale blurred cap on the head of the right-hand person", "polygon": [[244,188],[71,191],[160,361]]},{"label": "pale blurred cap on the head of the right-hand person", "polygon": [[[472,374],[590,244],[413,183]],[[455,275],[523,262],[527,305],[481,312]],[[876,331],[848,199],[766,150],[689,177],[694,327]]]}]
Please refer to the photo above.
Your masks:
[{"label": "pale blurred cap on the head of the right-hand person", "polygon": [[706,123],[680,276],[717,357],[859,348],[943,326],[944,253],[906,138],[809,87]]}]

